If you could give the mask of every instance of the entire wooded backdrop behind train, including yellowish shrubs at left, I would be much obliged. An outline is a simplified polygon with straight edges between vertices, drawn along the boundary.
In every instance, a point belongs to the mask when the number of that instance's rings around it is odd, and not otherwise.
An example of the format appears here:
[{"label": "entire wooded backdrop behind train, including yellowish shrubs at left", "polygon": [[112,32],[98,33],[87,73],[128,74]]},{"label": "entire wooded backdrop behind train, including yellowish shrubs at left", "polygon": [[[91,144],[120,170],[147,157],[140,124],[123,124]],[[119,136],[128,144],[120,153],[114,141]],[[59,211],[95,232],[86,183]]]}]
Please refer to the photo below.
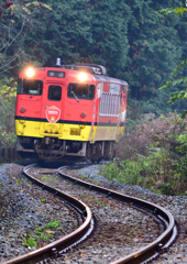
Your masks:
[{"label": "entire wooded backdrop behind train, including yellowish shrubs at left", "polygon": [[[170,92],[184,89],[183,82],[175,82],[173,73],[177,72],[177,78],[186,75],[186,63],[177,70],[176,66],[186,59],[187,14],[158,12],[182,4],[184,1],[179,0],[0,0],[0,147],[15,142],[14,105],[20,69],[26,65],[52,66],[57,57],[62,64],[101,64],[109,76],[129,82],[127,135],[140,123],[146,131],[145,123],[161,117],[169,120],[170,125],[173,117],[175,124],[182,124],[179,130],[174,133],[175,128],[167,125],[168,134],[163,133],[167,139],[175,134],[174,147],[184,146],[185,121],[177,113],[186,110],[186,100],[172,105],[167,101]],[[174,82],[167,89],[158,89],[168,80]],[[155,122],[155,130],[162,127],[161,122]],[[183,150],[178,155],[186,157]],[[187,162],[183,167],[186,174]]]}]

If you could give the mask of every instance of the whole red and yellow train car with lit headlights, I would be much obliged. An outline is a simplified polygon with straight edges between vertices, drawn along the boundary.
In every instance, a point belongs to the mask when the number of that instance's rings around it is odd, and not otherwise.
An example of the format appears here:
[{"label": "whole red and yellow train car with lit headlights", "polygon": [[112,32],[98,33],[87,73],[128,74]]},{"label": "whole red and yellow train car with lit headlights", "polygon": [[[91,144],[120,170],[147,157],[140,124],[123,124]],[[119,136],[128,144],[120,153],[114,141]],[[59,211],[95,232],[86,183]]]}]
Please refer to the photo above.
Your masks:
[{"label": "whole red and yellow train car with lit headlights", "polygon": [[19,74],[15,134],[21,157],[110,158],[124,131],[129,85],[97,64],[26,67]]}]

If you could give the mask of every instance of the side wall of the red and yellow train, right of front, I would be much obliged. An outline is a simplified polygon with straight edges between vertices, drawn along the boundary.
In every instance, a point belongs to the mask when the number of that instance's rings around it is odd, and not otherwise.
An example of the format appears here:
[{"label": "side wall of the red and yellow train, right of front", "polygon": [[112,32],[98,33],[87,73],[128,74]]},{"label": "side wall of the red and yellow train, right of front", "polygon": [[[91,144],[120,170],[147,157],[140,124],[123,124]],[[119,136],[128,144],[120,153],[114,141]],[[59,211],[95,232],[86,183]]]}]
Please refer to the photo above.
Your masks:
[{"label": "side wall of the red and yellow train, right of front", "polygon": [[[125,90],[125,91],[124,91]],[[124,131],[128,86],[99,82],[97,86],[96,120],[90,142],[117,141]]]}]

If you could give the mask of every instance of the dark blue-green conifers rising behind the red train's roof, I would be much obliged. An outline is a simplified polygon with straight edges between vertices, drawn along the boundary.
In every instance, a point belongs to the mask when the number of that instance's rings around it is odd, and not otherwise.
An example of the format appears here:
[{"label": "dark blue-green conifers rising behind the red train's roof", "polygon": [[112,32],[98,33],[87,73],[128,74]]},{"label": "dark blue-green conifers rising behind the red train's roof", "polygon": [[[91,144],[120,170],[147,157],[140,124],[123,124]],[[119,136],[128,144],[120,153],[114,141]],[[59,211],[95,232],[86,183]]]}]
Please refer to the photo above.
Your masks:
[{"label": "dark blue-green conifers rising behind the red train's roof", "polygon": [[63,64],[102,64],[109,75],[130,84],[133,99],[146,101],[144,112],[158,116],[172,110],[166,106],[168,94],[157,90],[183,54],[179,20],[157,13],[167,1],[47,0],[47,4],[52,11],[40,16],[41,31],[29,31],[32,44],[25,63],[37,57],[51,66],[62,57]]}]

